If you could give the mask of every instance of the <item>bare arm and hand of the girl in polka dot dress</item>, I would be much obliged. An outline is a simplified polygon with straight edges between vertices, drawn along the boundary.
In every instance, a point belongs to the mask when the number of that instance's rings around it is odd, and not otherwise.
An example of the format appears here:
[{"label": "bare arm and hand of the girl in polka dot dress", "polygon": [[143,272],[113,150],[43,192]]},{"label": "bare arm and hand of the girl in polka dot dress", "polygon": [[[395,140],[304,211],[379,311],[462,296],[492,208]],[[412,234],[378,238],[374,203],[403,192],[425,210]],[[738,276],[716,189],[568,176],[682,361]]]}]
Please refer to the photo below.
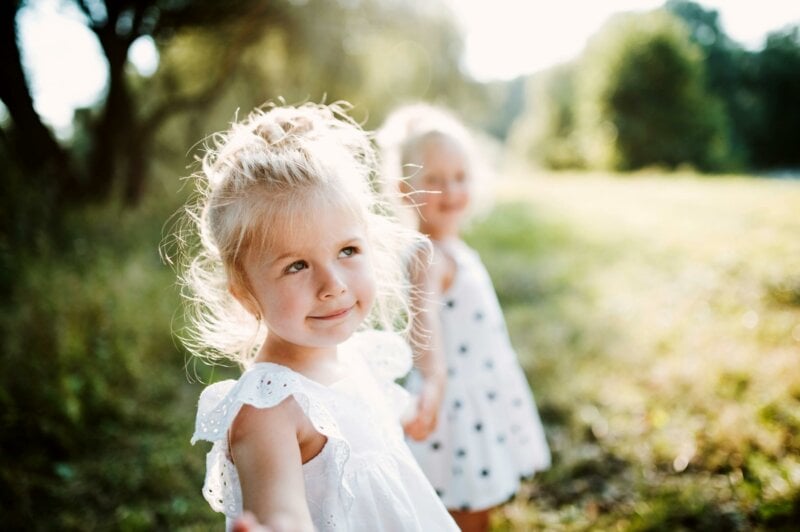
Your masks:
[{"label": "bare arm and hand of the girl in polka dot dress", "polygon": [[416,312],[412,321],[411,343],[414,366],[423,378],[416,412],[405,423],[406,434],[423,440],[436,428],[445,387],[445,361],[439,326],[439,294],[443,264],[433,249],[420,250],[410,269],[412,303]]}]

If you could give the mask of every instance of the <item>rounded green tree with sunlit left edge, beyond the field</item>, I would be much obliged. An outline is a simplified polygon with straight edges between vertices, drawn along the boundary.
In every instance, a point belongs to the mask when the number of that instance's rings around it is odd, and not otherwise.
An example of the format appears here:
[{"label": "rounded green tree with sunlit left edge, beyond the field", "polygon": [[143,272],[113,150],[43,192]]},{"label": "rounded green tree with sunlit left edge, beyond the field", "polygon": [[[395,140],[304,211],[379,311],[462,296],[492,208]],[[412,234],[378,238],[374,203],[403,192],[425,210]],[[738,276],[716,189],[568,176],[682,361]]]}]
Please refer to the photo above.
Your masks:
[{"label": "rounded green tree with sunlit left edge, beyond the field", "polygon": [[578,129],[593,168],[719,170],[728,155],[720,103],[699,50],[659,10],[612,18],[581,59]]}]

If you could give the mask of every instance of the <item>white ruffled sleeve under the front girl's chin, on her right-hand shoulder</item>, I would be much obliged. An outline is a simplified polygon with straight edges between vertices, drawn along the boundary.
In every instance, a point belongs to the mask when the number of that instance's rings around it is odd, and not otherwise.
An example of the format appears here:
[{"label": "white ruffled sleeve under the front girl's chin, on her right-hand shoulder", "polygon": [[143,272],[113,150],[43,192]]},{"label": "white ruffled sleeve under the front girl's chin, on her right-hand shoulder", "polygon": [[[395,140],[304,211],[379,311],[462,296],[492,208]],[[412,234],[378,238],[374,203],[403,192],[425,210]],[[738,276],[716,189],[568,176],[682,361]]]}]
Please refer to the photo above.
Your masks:
[{"label": "white ruffled sleeve under the front girl's chin, on her right-hand shoulder", "polygon": [[364,361],[394,415],[406,415],[410,396],[396,381],[411,371],[408,342],[393,332],[368,330],[354,334],[342,347]]}]

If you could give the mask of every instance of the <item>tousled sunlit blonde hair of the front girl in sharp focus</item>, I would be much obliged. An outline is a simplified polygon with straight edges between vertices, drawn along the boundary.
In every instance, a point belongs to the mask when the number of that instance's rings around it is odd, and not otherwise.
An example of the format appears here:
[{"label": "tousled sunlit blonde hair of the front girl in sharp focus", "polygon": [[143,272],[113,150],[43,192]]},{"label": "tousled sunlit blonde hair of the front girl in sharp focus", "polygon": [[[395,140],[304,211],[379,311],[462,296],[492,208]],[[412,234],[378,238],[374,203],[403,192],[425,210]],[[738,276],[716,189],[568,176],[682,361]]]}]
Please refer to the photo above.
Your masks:
[{"label": "tousled sunlit blonde hair of the front girl in sharp focus", "polygon": [[211,137],[202,171],[193,176],[197,194],[186,209],[188,224],[178,231],[187,314],[182,340],[193,354],[243,366],[255,356],[268,331],[229,286],[247,286],[242,261],[248,248],[291,231],[275,224],[309,195],[351,209],[365,224],[373,268],[380,273],[364,326],[408,330],[403,250],[423,237],[388,215],[372,186],[377,176],[370,137],[349,109],[344,102],[267,104]]}]

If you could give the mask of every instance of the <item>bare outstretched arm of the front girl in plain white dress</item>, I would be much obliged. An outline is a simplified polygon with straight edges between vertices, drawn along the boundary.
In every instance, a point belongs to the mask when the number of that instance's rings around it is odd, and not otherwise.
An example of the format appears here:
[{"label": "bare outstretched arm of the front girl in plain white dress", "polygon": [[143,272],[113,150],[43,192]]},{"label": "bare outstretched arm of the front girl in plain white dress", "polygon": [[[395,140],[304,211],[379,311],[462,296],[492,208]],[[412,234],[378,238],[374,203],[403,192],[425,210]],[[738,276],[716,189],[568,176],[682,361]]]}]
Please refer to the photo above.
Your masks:
[{"label": "bare outstretched arm of the front girl in plain white dress", "polygon": [[275,532],[313,532],[299,433],[305,420],[289,398],[272,408],[242,407],[231,427],[231,454],[244,510]]}]

